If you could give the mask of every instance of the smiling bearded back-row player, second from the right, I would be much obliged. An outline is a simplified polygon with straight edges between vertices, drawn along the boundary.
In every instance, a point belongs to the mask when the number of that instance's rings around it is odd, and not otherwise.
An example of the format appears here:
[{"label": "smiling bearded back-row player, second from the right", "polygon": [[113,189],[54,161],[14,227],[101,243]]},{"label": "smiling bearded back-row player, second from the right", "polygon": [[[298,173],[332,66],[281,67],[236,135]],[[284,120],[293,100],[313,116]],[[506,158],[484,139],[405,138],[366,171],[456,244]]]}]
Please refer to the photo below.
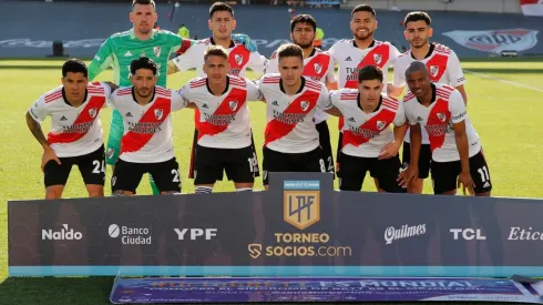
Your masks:
[{"label": "smiling bearded back-row player, second from the right", "polygon": [[[368,4],[360,4],[352,9],[350,30],[352,39],[344,39],[334,44],[328,52],[338,63],[338,84],[339,88],[357,89],[358,70],[366,65],[377,65],[385,71],[383,84],[387,90],[388,68],[393,64],[400,52],[388,41],[378,41],[373,39],[373,32],[377,29],[376,11]],[[385,92],[388,92],[385,90]],[[339,118],[339,130],[344,126],[344,118]],[[337,173],[340,174],[340,143],[342,133],[339,133],[338,152],[337,152]],[[379,190],[377,180],[376,186]]]}]

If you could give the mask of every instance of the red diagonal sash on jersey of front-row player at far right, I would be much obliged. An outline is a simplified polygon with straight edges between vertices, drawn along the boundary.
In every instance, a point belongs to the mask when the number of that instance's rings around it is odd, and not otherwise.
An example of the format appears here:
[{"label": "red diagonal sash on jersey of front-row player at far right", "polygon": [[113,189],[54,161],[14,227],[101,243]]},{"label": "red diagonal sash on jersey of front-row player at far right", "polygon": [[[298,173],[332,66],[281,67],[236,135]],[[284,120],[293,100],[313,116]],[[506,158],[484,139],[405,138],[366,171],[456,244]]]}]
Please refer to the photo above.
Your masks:
[{"label": "red diagonal sash on jersey of front-row player at far right", "polygon": [[[441,115],[438,116],[438,113],[440,113]],[[444,121],[441,120],[440,116],[441,119],[443,119],[444,116]],[[449,102],[443,99],[438,99],[432,110],[428,114],[426,126],[430,140],[430,149],[432,152],[433,150],[443,146],[443,143],[445,141],[445,130],[450,119],[451,112],[449,111]],[[437,130],[440,130],[441,132],[437,134]]]}]

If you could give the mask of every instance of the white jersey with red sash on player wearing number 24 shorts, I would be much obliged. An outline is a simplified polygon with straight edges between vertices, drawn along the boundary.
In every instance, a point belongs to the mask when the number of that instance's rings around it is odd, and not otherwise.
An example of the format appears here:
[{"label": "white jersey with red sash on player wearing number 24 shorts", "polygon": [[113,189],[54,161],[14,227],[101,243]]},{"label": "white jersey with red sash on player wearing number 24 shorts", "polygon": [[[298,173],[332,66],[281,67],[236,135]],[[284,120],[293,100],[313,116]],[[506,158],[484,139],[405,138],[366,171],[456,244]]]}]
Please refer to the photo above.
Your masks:
[{"label": "white jersey with red sash on player wearing number 24 shorts", "polygon": [[42,122],[51,116],[48,143],[59,157],[84,155],[103,145],[100,111],[106,105],[111,94],[105,83],[89,83],[85,100],[80,106],[72,106],[63,87],[58,87],[41,95],[29,109],[30,115]]}]

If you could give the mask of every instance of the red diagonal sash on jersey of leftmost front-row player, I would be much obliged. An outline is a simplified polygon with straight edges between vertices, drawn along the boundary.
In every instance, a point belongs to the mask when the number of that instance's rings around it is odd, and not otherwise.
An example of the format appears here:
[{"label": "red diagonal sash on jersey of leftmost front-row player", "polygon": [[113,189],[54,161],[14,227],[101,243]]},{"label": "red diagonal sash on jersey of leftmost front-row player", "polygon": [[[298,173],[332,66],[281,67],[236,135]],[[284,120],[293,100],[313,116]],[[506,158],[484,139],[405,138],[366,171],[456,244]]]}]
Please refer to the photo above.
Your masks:
[{"label": "red diagonal sash on jersey of leftmost front-row player", "polygon": [[[84,124],[84,123],[90,123],[96,120],[98,114],[100,113],[100,110],[104,106],[105,103],[105,96],[91,96],[89,102],[86,103],[85,108],[81,111],[79,114],[78,119],[73,121],[72,126],[76,124]],[[61,133],[49,133],[48,134],[48,143],[53,144],[53,143],[71,143],[80,140],[83,138],[91,126],[85,128],[84,132],[61,132]]]}]

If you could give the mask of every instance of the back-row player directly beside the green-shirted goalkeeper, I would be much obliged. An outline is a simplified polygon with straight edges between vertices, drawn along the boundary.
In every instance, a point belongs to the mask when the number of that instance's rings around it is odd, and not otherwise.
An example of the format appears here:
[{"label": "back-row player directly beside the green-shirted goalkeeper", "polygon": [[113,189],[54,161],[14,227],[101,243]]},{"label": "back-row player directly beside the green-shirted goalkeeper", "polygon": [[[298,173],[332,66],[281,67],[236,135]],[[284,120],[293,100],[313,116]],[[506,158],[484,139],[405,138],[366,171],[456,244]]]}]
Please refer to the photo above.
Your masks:
[{"label": "back-row player directly beside the green-shirted goalkeeper", "polygon": [[[228,64],[230,70],[228,74],[245,78],[247,68],[258,73],[263,72],[267,64],[267,59],[260,55],[258,52],[249,52],[244,44],[236,43],[232,40],[232,31],[236,29],[237,22],[234,18],[234,9],[230,6],[223,2],[215,2],[209,8],[209,20],[207,21],[209,30],[212,30],[212,37],[199,41],[181,57],[177,57],[168,62],[168,73],[175,73],[177,71],[187,71],[189,69],[196,69],[198,77],[204,78],[206,75],[204,71],[204,53],[209,45],[222,45],[228,51]],[[199,130],[201,114],[196,109],[194,113],[194,139],[191,151],[191,169],[188,171],[188,177],[194,179],[194,164],[196,162],[196,150],[198,130]],[[254,163],[258,164],[254,140],[252,136],[252,150]],[[259,176],[259,170],[256,167],[256,176]],[[218,176],[217,180],[222,180]]]}]

